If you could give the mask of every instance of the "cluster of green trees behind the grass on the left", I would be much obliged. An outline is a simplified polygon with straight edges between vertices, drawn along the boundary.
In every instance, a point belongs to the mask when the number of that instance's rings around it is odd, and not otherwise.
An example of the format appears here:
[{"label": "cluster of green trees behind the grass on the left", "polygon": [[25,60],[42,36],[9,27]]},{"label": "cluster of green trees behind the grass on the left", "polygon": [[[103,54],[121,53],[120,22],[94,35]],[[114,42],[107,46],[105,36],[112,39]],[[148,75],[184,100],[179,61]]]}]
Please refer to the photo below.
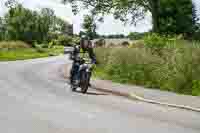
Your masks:
[{"label": "cluster of green trees behind the grass on the left", "polygon": [[59,34],[65,34],[69,25],[55,16],[52,9],[43,8],[32,11],[21,4],[7,3],[9,8],[4,17],[0,18],[1,40],[22,40],[28,43],[48,42],[56,39]]}]

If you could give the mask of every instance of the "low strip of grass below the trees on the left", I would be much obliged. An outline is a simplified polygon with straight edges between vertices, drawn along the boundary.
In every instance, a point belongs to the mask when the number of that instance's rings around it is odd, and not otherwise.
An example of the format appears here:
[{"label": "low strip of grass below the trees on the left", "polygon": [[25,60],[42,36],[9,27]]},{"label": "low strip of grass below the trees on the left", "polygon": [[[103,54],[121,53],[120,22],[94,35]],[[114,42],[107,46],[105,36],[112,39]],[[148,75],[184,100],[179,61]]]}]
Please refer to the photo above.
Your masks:
[{"label": "low strip of grass below the trees on the left", "polygon": [[0,42],[0,61],[15,61],[56,56],[63,53],[63,46],[33,48],[21,41]]}]

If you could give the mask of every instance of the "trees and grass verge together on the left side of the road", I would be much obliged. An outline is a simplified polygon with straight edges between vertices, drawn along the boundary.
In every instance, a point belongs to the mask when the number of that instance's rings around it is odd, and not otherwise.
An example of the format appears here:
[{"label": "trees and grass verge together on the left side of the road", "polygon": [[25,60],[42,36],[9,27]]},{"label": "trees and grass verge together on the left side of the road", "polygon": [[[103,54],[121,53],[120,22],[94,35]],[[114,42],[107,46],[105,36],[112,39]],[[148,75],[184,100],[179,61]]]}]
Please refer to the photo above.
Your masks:
[{"label": "trees and grass verge together on the left side of the road", "polygon": [[59,55],[79,39],[52,9],[30,10],[17,0],[5,5],[8,11],[0,17],[0,61]]}]

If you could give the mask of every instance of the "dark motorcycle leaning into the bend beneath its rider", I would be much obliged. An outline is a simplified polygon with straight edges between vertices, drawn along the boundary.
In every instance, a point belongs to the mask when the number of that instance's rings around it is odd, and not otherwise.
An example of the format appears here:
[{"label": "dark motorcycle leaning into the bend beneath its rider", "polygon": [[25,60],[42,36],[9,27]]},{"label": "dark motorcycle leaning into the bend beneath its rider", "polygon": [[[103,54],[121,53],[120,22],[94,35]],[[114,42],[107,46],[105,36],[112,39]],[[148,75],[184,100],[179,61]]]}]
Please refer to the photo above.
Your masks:
[{"label": "dark motorcycle leaning into the bend beneath its rider", "polygon": [[77,88],[81,88],[83,94],[87,93],[89,88],[90,78],[92,74],[92,64],[86,63],[84,59],[80,59],[78,75],[73,75],[71,80],[71,89],[76,91]]}]

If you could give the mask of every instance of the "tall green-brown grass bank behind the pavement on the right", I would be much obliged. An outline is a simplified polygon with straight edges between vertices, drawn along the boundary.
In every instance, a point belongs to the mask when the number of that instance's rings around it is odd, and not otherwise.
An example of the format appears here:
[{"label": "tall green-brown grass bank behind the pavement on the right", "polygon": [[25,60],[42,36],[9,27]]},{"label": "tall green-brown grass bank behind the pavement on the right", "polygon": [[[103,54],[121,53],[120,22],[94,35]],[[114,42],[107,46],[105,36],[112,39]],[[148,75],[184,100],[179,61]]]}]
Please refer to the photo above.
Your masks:
[{"label": "tall green-brown grass bank behind the pavement on the right", "polygon": [[[97,48],[101,71],[120,83],[181,94],[200,95],[200,43],[174,41],[154,54],[153,48]],[[105,76],[104,76],[105,77]]]}]

